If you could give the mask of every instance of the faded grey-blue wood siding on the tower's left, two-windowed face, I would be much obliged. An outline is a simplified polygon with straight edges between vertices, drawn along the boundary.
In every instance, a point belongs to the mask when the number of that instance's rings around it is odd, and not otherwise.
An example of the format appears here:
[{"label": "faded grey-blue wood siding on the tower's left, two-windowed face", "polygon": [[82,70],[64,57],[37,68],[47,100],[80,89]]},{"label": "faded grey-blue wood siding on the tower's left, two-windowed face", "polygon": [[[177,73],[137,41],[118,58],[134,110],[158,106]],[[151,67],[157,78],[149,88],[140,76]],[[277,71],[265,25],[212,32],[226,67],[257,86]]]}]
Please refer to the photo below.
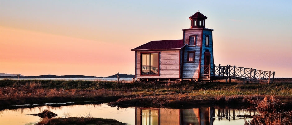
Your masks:
[{"label": "faded grey-blue wood siding on the tower's left, two-windowed face", "polygon": [[[201,51],[201,39],[202,30],[186,30],[184,31],[184,43],[189,43],[189,35],[197,35],[195,46],[186,46],[184,53],[184,66],[182,78],[195,79],[199,75],[199,63],[200,63],[200,51]],[[195,51],[195,61],[187,62],[188,51]]]}]

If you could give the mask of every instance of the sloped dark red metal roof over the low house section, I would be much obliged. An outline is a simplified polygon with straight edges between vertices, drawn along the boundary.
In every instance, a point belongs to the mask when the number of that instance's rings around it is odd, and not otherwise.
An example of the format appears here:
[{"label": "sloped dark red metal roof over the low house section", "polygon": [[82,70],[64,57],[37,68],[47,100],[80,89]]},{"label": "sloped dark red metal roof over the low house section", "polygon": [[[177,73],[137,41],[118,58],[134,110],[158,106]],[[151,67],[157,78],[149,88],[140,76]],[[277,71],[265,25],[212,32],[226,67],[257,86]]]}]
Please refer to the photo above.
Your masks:
[{"label": "sloped dark red metal roof over the low house section", "polygon": [[183,40],[161,40],[161,41],[150,41],[144,45],[132,49],[132,51],[151,51],[151,50],[179,50],[186,44]]}]

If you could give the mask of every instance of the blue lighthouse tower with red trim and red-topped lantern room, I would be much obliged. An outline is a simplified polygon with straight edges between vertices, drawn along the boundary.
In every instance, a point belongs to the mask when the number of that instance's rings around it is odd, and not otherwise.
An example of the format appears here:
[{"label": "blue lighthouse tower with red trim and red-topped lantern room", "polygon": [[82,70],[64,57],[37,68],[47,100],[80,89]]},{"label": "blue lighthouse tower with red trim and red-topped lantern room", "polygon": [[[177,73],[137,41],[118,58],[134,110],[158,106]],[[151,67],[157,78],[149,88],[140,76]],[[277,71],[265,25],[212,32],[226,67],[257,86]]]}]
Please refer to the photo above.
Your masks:
[{"label": "blue lighthouse tower with red trim and red-topped lantern room", "polygon": [[206,27],[206,19],[199,11],[189,17],[191,25],[183,30],[183,42],[187,44],[183,52],[183,79],[210,79],[213,72],[213,29]]}]

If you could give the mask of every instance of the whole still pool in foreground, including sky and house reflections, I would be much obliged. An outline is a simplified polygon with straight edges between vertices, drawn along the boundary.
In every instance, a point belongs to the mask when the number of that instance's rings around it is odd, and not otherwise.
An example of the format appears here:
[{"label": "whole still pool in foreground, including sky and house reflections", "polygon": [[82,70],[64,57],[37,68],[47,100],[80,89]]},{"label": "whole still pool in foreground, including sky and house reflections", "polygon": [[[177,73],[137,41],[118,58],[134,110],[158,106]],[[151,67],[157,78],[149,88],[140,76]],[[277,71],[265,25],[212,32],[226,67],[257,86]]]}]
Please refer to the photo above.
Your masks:
[{"label": "whole still pool in foreground, including sky and house reflections", "polygon": [[[23,105],[27,106],[27,105]],[[244,118],[257,111],[202,107],[168,109],[151,107],[111,107],[106,103],[68,106],[37,106],[34,108],[5,109],[0,111],[2,125],[34,125],[41,118],[30,114],[49,110],[57,117],[96,117],[116,119],[129,125],[243,125]],[[245,116],[245,117],[244,117]]]}]

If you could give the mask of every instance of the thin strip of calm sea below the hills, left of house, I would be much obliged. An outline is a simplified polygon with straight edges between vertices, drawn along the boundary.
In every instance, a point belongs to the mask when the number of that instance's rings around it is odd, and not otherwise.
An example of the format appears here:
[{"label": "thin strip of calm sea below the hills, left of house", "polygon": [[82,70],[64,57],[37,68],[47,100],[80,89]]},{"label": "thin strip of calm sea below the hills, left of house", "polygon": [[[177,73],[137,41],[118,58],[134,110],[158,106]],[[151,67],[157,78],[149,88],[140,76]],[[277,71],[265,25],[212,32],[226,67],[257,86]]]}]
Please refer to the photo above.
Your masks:
[{"label": "thin strip of calm sea below the hills, left of house", "polygon": [[[18,78],[0,78],[18,80]],[[132,78],[120,78],[121,81],[132,81]],[[20,78],[20,80],[84,80],[84,81],[118,81],[117,78]]]}]

